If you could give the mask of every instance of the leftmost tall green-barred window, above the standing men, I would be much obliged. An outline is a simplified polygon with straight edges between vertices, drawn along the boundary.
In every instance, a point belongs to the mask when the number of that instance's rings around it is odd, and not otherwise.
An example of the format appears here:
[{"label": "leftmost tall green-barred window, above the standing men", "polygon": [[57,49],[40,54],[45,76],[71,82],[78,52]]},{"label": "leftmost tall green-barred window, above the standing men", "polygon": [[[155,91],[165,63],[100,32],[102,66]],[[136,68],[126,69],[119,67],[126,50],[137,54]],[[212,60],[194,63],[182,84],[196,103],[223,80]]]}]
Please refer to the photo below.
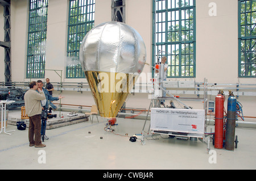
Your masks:
[{"label": "leftmost tall green-barred window, above the standing men", "polygon": [[27,44],[27,78],[44,78],[48,0],[30,0]]}]

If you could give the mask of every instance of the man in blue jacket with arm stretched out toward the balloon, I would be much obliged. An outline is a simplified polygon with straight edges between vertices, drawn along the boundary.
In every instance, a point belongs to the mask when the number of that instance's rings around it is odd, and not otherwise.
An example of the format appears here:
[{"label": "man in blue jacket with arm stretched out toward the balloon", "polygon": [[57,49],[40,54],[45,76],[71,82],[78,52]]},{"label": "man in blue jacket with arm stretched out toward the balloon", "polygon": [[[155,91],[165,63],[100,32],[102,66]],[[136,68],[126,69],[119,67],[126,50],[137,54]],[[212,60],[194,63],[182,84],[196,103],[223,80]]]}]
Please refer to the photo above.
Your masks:
[{"label": "man in blue jacket with arm stretched out toward the balloon", "polygon": [[[41,100],[42,103],[42,115],[47,114],[48,112],[48,108],[49,108],[49,104],[48,104],[48,100],[59,100],[64,98],[63,96],[59,96],[59,97],[53,97],[49,94],[47,89],[44,89],[43,87],[43,82],[41,80],[36,81],[36,84],[38,86],[38,89],[40,89],[40,91],[44,92],[45,95],[45,99]],[[45,135],[46,134],[46,120],[47,117],[43,116],[42,117],[42,127],[41,127],[41,137],[48,140],[49,138]]]}]

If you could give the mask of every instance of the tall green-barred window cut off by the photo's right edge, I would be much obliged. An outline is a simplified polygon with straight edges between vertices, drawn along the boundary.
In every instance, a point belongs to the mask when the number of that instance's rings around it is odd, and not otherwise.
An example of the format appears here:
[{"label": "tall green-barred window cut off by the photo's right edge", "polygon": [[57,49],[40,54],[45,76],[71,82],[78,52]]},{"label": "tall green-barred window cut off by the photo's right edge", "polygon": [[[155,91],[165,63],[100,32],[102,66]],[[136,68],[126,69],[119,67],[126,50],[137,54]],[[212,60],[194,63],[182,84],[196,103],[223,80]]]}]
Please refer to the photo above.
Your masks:
[{"label": "tall green-barred window cut off by the photo's right edge", "polygon": [[238,77],[256,77],[256,0],[238,1]]}]

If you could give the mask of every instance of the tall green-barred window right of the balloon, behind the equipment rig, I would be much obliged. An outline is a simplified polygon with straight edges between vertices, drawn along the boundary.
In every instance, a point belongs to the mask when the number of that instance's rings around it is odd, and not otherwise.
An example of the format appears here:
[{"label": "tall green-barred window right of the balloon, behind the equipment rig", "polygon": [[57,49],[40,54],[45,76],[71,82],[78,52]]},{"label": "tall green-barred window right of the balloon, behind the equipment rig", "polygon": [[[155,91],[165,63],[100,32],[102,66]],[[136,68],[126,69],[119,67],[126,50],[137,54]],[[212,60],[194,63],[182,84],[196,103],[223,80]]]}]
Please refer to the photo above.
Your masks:
[{"label": "tall green-barred window right of the balloon, behind the equipment rig", "polygon": [[153,1],[153,65],[167,57],[167,77],[195,77],[195,0]]}]

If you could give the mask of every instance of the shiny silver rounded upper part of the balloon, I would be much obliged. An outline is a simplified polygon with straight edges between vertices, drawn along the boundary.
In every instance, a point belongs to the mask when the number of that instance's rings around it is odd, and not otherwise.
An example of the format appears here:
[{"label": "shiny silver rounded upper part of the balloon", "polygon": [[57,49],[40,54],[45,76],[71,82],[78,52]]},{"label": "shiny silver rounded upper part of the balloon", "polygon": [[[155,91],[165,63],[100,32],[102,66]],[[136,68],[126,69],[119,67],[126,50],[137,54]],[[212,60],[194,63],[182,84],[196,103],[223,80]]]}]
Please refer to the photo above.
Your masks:
[{"label": "shiny silver rounded upper part of the balloon", "polygon": [[141,73],[146,47],[134,28],[106,22],[90,30],[82,40],[80,62],[84,71]]}]

